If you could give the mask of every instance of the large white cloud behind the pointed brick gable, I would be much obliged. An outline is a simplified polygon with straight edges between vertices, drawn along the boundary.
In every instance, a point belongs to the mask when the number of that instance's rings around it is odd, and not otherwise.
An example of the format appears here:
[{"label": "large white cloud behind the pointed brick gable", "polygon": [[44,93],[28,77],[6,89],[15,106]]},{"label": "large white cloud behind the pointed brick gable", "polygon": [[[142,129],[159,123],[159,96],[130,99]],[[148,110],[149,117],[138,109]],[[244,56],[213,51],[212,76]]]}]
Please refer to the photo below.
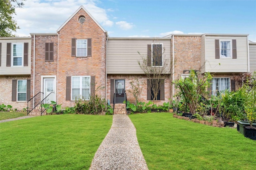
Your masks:
[{"label": "large white cloud behind the pointed brick gable", "polygon": [[14,19],[20,29],[18,36],[29,36],[29,33],[54,33],[81,6],[102,25],[111,27],[114,22],[108,18],[103,8],[96,6],[97,0],[28,0],[23,8],[16,8]]}]

